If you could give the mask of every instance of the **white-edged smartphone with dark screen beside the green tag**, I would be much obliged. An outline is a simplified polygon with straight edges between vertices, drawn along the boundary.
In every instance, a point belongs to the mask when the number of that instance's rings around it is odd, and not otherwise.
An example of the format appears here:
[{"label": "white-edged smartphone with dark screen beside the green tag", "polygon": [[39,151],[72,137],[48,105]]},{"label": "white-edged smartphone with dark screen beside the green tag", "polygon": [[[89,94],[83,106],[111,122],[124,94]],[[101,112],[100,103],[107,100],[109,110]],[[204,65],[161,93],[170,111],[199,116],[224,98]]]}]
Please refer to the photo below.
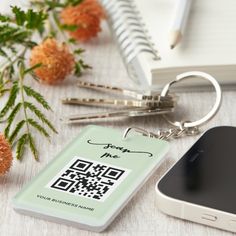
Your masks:
[{"label": "white-edged smartphone with dark screen beside the green tag", "polygon": [[158,181],[168,215],[236,232],[236,127],[208,130]]}]

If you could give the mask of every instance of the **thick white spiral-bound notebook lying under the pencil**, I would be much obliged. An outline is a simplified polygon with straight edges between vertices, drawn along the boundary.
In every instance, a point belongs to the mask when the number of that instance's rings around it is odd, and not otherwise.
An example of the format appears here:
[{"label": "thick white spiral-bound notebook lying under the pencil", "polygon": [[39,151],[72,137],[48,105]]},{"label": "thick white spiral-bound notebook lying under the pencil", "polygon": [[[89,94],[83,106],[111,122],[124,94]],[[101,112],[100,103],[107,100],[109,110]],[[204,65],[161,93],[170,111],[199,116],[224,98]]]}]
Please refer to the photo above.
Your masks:
[{"label": "thick white spiral-bound notebook lying under the pencil", "polygon": [[[223,85],[236,82],[236,1],[193,1],[181,44],[170,49],[174,0],[101,0],[130,76],[161,88],[200,70]],[[198,85],[193,81],[190,85]]]}]

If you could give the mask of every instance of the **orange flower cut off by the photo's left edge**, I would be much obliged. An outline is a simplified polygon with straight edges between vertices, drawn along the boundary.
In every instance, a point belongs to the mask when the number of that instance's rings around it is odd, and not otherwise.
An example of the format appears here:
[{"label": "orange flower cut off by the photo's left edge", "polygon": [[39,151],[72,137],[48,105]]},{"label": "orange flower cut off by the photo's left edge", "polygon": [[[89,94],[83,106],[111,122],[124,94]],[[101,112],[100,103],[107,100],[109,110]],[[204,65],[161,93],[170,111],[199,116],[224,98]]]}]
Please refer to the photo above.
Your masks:
[{"label": "orange flower cut off by the photo's left edge", "polygon": [[12,151],[11,146],[5,139],[5,137],[0,134],[0,175],[6,174],[12,164]]}]

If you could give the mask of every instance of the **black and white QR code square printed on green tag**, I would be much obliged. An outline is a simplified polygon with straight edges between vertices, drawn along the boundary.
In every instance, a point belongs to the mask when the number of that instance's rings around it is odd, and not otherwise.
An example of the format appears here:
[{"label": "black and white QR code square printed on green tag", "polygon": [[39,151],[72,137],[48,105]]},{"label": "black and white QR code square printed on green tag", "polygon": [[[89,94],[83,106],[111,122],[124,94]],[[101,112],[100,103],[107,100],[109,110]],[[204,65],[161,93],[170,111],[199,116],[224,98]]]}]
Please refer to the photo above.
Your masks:
[{"label": "black and white QR code square printed on green tag", "polygon": [[130,170],[76,157],[48,184],[47,188],[104,201]]}]

